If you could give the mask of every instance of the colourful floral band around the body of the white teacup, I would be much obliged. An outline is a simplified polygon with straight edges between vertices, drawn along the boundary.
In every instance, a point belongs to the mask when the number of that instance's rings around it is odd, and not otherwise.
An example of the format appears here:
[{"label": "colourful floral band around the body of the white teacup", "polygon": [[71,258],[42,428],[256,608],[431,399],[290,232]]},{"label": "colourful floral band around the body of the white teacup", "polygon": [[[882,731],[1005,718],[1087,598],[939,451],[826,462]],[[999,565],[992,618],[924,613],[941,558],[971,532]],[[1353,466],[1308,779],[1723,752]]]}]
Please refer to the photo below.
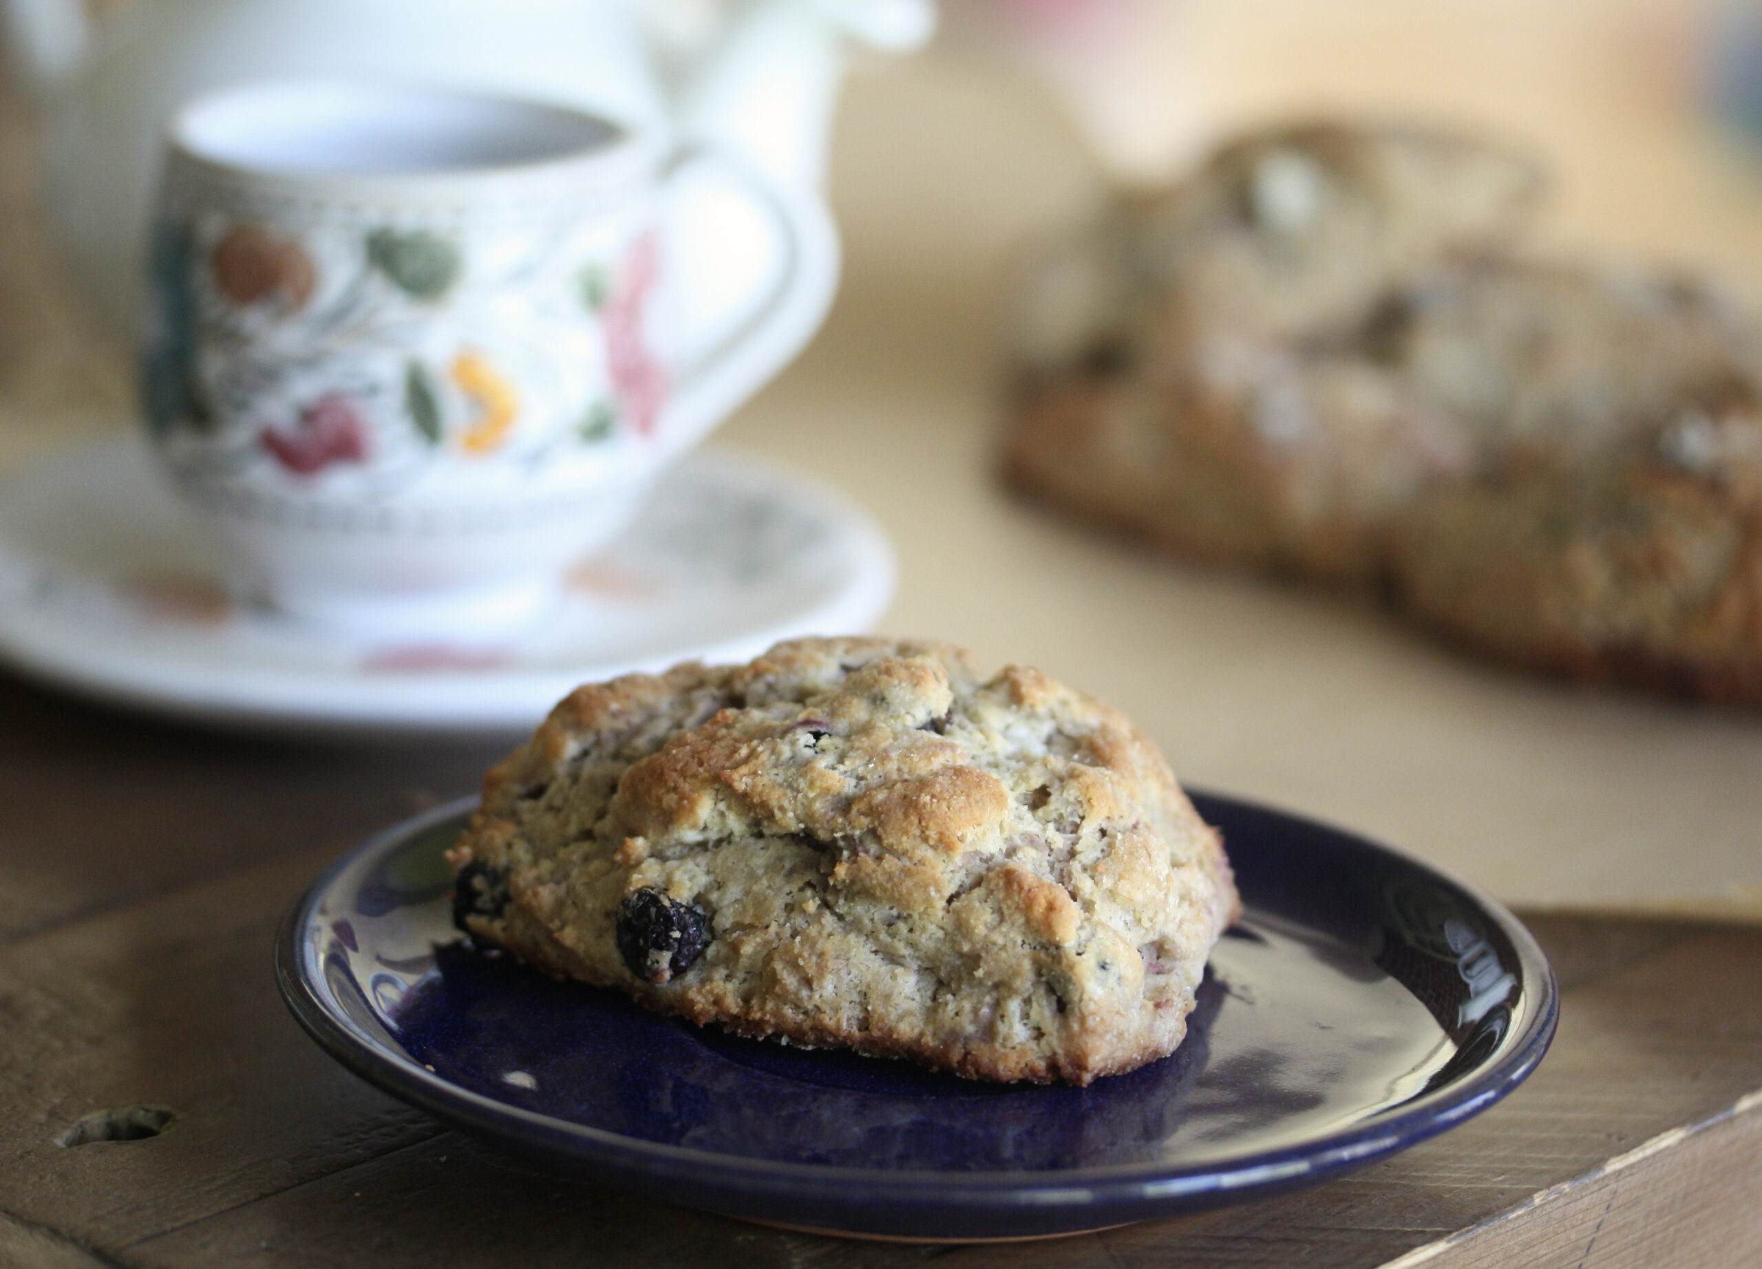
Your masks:
[{"label": "colourful floral band around the body of the white teacup", "polygon": [[659,241],[589,229],[167,217],[152,430],[199,483],[268,462],[291,494],[352,471],[351,497],[432,485],[449,462],[645,442],[668,391],[645,335]]}]

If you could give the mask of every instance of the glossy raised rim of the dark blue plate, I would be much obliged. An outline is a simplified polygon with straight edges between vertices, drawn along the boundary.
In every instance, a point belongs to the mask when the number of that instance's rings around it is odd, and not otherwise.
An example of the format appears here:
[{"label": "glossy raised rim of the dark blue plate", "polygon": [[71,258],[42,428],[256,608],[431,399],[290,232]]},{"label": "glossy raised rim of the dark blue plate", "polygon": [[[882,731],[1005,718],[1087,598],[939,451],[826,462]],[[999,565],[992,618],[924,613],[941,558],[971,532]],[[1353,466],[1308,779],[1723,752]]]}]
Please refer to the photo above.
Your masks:
[{"label": "glossy raised rim of the dark blue plate", "polygon": [[[1521,999],[1526,1001],[1526,1008],[1521,1026],[1514,1026],[1512,1035],[1501,1045],[1501,1054],[1461,1084],[1420,1093],[1355,1124],[1322,1133],[1307,1144],[1281,1146],[1240,1160],[1225,1156],[1188,1165],[1152,1161],[1075,1170],[1008,1172],[855,1169],[724,1154],[569,1123],[497,1102],[453,1084],[412,1059],[386,1052],[370,1036],[351,1028],[347,1019],[340,1019],[328,1008],[307,980],[308,939],[305,931],[310,929],[317,904],[337,879],[358,862],[389,851],[409,837],[472,811],[478,805],[474,795],[455,798],[382,828],[333,860],[289,908],[277,931],[277,985],[284,1003],[307,1035],[344,1068],[428,1114],[467,1132],[476,1132],[504,1147],[532,1153],[541,1149],[541,1142],[553,1147],[562,1146],[573,1163],[587,1165],[608,1179],[627,1177],[634,1165],[640,1176],[629,1177],[633,1183],[687,1177],[698,1188],[717,1188],[731,1197],[788,1197],[798,1202],[812,1202],[814,1198],[849,1202],[860,1197],[863,1206],[914,1204],[941,1209],[944,1214],[974,1206],[994,1213],[1003,1209],[1047,1214],[1064,1211],[1071,1216],[1096,1209],[1142,1207],[1144,1213],[1138,1220],[1144,1220],[1246,1202],[1279,1190],[1332,1179],[1436,1137],[1503,1100],[1536,1068],[1559,1022],[1559,987],[1535,936],[1505,904],[1429,860],[1351,830],[1251,798],[1200,788],[1186,788],[1186,791],[1195,798],[1343,837],[1357,846],[1392,857],[1404,867],[1418,869],[1431,879],[1454,887],[1471,899],[1480,913],[1491,918],[1510,939],[1521,969]],[[525,1132],[515,1137],[509,1121]],[[571,1146],[592,1149],[569,1149]],[[862,1193],[853,1195],[853,1190]],[[678,1198],[678,1202],[694,1204],[691,1197]],[[1075,1230],[1077,1225],[1071,1228]]]}]

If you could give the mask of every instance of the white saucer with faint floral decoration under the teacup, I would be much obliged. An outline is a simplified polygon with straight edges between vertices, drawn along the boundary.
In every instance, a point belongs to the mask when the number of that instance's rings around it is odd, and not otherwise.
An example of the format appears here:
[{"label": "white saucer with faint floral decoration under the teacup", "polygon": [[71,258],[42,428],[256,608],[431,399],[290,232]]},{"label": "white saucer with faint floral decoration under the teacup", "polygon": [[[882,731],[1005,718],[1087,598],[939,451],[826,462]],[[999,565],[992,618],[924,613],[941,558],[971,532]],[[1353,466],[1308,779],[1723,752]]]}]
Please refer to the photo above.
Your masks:
[{"label": "white saucer with faint floral decoration under the teacup", "polygon": [[893,592],[879,527],[830,490],[696,451],[564,608],[497,645],[372,645],[247,601],[134,437],[0,488],[0,661],[106,701],[271,731],[530,730],[571,687],[779,638],[865,629]]}]

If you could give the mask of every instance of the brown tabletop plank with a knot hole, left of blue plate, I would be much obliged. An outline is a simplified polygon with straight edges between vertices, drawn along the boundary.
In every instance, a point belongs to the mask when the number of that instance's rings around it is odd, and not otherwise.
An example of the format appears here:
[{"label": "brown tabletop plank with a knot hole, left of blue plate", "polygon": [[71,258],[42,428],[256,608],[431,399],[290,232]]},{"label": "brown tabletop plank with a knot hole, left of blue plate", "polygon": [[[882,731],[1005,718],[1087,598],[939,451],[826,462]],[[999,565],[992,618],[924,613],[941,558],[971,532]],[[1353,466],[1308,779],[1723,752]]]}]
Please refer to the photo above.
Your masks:
[{"label": "brown tabletop plank with a knot hole, left of blue plate", "polygon": [[[275,922],[331,853],[0,950],[0,1209],[115,1255],[442,1132],[342,1075],[277,996]],[[178,1117],[148,1140],[56,1144],[136,1103]]]}]

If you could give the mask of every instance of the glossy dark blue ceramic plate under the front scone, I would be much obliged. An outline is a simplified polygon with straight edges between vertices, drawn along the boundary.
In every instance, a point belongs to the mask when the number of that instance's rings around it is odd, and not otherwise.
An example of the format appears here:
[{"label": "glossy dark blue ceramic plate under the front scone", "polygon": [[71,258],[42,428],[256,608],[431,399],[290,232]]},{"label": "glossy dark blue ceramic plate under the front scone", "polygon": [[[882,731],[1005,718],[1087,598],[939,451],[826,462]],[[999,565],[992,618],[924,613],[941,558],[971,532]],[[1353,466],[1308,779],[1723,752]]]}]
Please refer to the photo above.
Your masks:
[{"label": "glossy dark blue ceramic plate under the front scone", "polygon": [[458,941],[440,807],[331,867],[277,976],[331,1056],[486,1140],[655,1198],[848,1234],[1064,1234],[1314,1184],[1485,1110],[1558,994],[1499,904],[1307,820],[1195,797],[1246,913],[1186,1043],[1087,1089],[990,1086],[647,1013]]}]

